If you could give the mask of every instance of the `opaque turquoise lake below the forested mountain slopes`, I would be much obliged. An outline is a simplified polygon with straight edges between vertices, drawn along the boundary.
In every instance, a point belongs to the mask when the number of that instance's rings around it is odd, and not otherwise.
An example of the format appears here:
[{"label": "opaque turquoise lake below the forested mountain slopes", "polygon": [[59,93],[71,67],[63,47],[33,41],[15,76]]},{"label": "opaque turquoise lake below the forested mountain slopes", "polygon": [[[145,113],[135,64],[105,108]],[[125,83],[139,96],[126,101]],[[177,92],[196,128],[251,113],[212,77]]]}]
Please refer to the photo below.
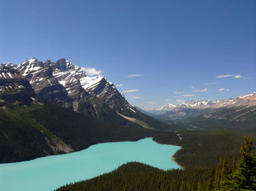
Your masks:
[{"label": "opaque turquoise lake below the forested mountain slopes", "polygon": [[179,149],[146,138],[134,142],[100,143],[71,154],[0,164],[0,190],[51,191],[70,182],[108,173],[132,161],[165,170],[180,168],[171,160]]}]

